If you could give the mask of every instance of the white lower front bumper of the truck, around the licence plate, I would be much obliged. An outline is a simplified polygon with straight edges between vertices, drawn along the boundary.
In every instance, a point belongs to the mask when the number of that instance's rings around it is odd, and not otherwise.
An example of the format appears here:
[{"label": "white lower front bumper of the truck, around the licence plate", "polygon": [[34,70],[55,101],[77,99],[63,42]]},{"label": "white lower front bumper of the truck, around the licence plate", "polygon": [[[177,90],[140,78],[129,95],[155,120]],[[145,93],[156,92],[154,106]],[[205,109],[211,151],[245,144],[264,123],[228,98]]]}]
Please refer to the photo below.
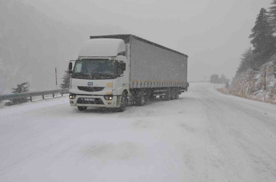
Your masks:
[{"label": "white lower front bumper of the truck, around the licence plate", "polygon": [[[92,98],[94,101],[85,101],[84,98]],[[69,98],[71,106],[84,106],[84,107],[120,107],[121,96],[113,96],[112,100],[105,100],[104,96],[86,96],[76,95],[74,99]]]}]

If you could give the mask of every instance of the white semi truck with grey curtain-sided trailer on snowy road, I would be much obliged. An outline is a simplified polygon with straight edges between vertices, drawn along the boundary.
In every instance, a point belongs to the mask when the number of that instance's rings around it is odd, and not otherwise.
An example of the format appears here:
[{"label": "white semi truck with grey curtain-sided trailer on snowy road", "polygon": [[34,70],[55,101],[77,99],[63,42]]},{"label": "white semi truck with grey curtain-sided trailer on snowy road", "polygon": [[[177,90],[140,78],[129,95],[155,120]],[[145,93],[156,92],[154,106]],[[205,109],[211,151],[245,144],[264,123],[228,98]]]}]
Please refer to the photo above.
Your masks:
[{"label": "white semi truck with grey curtain-sided trailer on snowy road", "polygon": [[122,112],[128,104],[174,100],[187,91],[188,56],[135,35],[90,36],[78,56],[69,63],[69,100],[79,110]]}]

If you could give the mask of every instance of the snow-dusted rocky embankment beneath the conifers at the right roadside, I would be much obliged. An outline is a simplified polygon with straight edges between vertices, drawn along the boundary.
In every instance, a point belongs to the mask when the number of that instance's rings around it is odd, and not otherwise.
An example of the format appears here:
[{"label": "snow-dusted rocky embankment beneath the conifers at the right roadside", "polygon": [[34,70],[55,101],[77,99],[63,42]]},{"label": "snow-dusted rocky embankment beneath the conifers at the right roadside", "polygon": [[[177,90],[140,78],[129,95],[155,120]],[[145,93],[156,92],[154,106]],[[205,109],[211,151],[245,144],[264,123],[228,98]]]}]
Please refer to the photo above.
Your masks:
[{"label": "snow-dusted rocky embankment beneath the conifers at the right roadside", "polygon": [[[266,90],[264,90],[264,76],[266,71]],[[273,75],[273,61],[260,67],[260,71],[248,69],[236,74],[231,83],[228,94],[237,95],[253,100],[276,103],[276,78]]]}]

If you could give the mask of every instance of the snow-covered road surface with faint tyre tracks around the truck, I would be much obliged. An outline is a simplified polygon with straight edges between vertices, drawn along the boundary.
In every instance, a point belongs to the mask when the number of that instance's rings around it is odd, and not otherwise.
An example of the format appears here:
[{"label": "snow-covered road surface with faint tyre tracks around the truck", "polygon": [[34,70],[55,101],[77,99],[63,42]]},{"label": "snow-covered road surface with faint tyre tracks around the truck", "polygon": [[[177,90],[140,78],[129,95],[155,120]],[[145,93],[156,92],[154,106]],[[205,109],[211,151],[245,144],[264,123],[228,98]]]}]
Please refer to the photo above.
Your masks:
[{"label": "snow-covered road surface with faint tyre tracks around the truck", "polygon": [[276,106],[190,83],[123,113],[0,109],[0,181],[276,181]]}]

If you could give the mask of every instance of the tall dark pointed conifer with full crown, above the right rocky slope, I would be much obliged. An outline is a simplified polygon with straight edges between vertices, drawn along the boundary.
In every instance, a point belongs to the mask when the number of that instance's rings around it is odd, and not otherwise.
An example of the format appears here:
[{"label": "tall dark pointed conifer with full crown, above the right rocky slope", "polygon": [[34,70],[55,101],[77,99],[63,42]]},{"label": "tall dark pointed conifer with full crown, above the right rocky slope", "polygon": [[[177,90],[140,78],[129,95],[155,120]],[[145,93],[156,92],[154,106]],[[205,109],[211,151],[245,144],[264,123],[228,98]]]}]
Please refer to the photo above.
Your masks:
[{"label": "tall dark pointed conifer with full crown, above the right rocky slope", "polygon": [[267,13],[264,8],[260,10],[255,21],[255,26],[251,29],[252,34],[249,36],[254,48],[253,66],[264,64],[275,53],[275,38]]}]

